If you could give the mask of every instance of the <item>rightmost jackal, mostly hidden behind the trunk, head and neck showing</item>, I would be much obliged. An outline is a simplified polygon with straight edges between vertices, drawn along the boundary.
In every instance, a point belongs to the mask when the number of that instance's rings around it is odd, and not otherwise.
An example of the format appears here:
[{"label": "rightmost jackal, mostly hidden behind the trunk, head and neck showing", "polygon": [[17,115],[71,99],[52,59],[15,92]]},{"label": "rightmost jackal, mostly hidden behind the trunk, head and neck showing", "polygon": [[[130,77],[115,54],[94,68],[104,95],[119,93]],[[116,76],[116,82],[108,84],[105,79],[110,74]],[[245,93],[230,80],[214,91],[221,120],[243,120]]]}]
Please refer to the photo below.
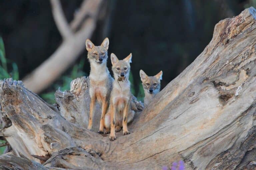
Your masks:
[{"label": "rightmost jackal, mostly hidden behind the trunk, head and neck showing", "polygon": [[160,91],[160,80],[162,80],[163,72],[160,71],[155,76],[148,76],[143,70],[140,70],[140,79],[144,88],[145,98],[144,106],[147,106],[152,98]]}]

